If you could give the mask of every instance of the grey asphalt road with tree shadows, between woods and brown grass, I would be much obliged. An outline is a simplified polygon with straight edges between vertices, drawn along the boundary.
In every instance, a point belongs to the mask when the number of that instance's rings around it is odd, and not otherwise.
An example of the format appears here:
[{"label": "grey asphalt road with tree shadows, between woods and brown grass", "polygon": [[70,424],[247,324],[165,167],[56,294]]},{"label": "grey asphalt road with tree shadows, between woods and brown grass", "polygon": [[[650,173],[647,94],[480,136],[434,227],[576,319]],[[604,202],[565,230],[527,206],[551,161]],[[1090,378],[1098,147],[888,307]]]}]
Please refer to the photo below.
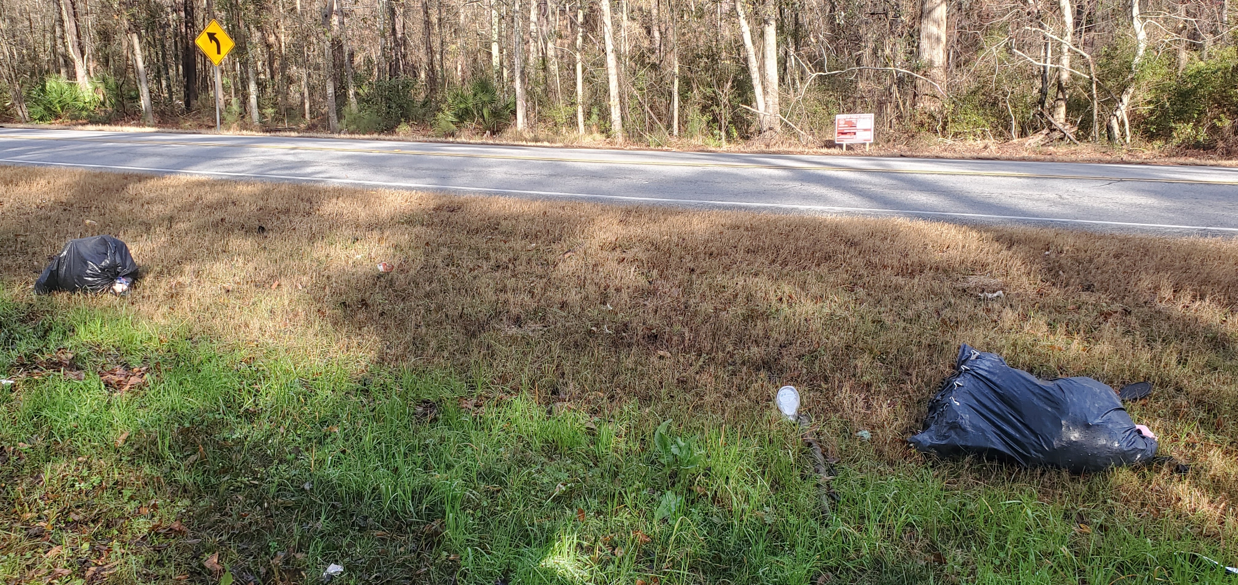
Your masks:
[{"label": "grey asphalt road with tree shadows, between woods and brown grass", "polygon": [[1238,168],[0,129],[0,164],[1238,235]]}]

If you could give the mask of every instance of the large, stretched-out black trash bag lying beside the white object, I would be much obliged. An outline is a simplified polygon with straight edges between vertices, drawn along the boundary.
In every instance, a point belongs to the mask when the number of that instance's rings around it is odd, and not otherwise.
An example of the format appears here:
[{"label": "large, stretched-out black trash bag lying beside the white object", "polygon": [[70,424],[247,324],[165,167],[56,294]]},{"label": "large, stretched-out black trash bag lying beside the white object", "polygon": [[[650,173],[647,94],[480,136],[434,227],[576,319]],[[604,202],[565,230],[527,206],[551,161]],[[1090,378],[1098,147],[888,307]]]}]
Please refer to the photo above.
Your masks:
[{"label": "large, stretched-out black trash bag lying beside the white object", "polygon": [[954,367],[928,402],[925,430],[907,439],[920,451],[1071,471],[1135,465],[1156,454],[1156,439],[1144,437],[1113,388],[1096,380],[1045,382],[966,344]]}]

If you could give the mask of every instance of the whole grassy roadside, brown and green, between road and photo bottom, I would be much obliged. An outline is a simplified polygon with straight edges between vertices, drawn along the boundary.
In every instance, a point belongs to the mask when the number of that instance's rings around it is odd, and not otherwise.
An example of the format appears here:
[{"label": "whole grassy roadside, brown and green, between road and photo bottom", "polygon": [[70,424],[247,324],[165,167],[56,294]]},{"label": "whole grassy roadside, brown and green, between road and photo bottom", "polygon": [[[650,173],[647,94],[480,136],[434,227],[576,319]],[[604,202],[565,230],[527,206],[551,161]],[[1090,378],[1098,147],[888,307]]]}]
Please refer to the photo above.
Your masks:
[{"label": "whole grassy roadside, brown and green, between road and photo bottom", "polygon": [[[1198,555],[1238,559],[1228,240],[5,167],[0,188],[0,376],[56,370],[0,391],[6,581],[115,562],[90,579],[207,583],[217,552],[261,583],[333,562],[354,583],[1229,583]],[[32,298],[87,233],[146,278]],[[963,341],[1153,380],[1133,413],[1191,472],[910,454]],[[150,382],[113,396],[123,364]],[[781,382],[841,459],[833,518],[770,418]],[[667,418],[698,458],[664,460]]]}]

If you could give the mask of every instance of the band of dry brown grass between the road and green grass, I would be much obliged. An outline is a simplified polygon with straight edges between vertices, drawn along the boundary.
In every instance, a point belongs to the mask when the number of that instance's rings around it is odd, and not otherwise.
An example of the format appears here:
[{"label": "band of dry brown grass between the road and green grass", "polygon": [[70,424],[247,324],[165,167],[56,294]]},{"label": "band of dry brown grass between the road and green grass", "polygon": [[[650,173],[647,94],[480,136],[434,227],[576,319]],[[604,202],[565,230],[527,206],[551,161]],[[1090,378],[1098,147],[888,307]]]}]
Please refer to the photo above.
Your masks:
[{"label": "band of dry brown grass between the road and green grass", "polygon": [[56,303],[579,404],[734,418],[794,383],[818,416],[874,429],[886,458],[959,343],[1042,377],[1151,380],[1133,412],[1197,472],[1132,475],[1124,497],[1238,522],[1232,240],[17,167],[0,188],[0,273],[21,296],[66,239],[109,233],[145,280],[125,299]]}]

